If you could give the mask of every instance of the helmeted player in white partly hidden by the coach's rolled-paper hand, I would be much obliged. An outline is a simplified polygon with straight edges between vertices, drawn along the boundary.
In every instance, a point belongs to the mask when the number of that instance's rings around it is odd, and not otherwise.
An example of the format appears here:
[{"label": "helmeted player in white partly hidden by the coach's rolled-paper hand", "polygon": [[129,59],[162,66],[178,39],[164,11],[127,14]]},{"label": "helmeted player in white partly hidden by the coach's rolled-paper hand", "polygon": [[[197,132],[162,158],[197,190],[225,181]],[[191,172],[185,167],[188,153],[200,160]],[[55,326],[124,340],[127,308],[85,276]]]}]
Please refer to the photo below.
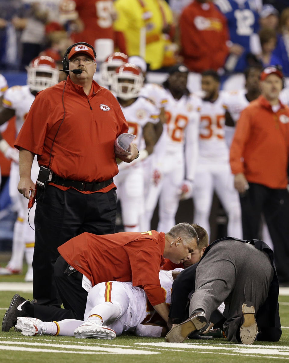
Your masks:
[{"label": "helmeted player in white partly hidden by the coach's rolled-paper hand", "polygon": [[143,86],[141,69],[133,64],[120,66],[112,76],[112,91],[128,122],[129,132],[140,156],[129,165],[120,164],[115,177],[117,197],[121,201],[125,232],[137,232],[144,209],[144,170],[141,161],[153,151],[156,143],[154,124],[159,122],[158,109],[144,97],[138,97]]}]

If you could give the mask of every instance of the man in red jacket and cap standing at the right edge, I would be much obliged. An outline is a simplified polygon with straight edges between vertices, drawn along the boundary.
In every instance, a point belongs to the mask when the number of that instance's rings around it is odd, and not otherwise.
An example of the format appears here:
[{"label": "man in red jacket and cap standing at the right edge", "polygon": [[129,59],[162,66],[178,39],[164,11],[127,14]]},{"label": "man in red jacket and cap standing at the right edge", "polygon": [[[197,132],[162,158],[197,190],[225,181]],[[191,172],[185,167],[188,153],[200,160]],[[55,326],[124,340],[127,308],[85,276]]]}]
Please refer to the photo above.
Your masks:
[{"label": "man in red jacket and cap standing at the right edge", "polygon": [[258,238],[263,213],[274,244],[279,282],[288,285],[289,108],[278,99],[282,78],[274,66],[261,72],[261,95],[241,113],[230,163],[240,193],[243,238]]}]

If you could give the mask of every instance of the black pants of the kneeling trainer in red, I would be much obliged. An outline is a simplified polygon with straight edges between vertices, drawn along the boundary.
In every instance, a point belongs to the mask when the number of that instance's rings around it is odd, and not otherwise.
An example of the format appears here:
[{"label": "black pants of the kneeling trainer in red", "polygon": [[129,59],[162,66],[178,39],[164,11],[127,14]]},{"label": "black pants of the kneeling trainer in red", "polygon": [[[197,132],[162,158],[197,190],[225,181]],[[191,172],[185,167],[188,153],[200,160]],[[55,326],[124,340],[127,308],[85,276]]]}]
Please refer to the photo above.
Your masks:
[{"label": "black pants of the kneeling trainer in red", "polygon": [[83,320],[88,292],[82,287],[82,277],[82,273],[59,256],[54,267],[54,278],[64,309],[53,305],[29,304],[26,312],[30,317],[42,321]]}]

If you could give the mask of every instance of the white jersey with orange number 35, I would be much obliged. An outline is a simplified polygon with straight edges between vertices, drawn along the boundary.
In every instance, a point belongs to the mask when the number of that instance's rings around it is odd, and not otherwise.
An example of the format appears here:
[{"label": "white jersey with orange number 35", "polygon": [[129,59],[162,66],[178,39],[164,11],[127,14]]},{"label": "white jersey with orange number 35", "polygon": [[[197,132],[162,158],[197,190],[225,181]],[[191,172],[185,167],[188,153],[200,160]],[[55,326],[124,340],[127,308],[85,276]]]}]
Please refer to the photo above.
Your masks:
[{"label": "white jersey with orange number 35", "polygon": [[202,100],[199,127],[199,156],[206,159],[228,160],[229,150],[224,138],[225,109],[220,94],[215,102]]}]

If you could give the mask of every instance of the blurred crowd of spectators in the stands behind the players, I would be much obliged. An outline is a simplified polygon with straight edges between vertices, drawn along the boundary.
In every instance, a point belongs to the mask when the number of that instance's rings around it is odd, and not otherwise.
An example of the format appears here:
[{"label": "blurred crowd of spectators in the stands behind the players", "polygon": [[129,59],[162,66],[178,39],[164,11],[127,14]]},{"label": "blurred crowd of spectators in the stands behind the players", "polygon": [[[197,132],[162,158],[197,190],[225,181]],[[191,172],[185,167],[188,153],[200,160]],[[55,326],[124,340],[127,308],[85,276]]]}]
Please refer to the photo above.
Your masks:
[{"label": "blurred crowd of spectators in the stands behind the players", "polygon": [[184,63],[191,72],[243,72],[281,65],[289,76],[285,0],[0,1],[0,69],[24,70],[39,54],[61,65],[67,47],[86,41],[98,61],[113,51],[140,55],[149,70]]}]

